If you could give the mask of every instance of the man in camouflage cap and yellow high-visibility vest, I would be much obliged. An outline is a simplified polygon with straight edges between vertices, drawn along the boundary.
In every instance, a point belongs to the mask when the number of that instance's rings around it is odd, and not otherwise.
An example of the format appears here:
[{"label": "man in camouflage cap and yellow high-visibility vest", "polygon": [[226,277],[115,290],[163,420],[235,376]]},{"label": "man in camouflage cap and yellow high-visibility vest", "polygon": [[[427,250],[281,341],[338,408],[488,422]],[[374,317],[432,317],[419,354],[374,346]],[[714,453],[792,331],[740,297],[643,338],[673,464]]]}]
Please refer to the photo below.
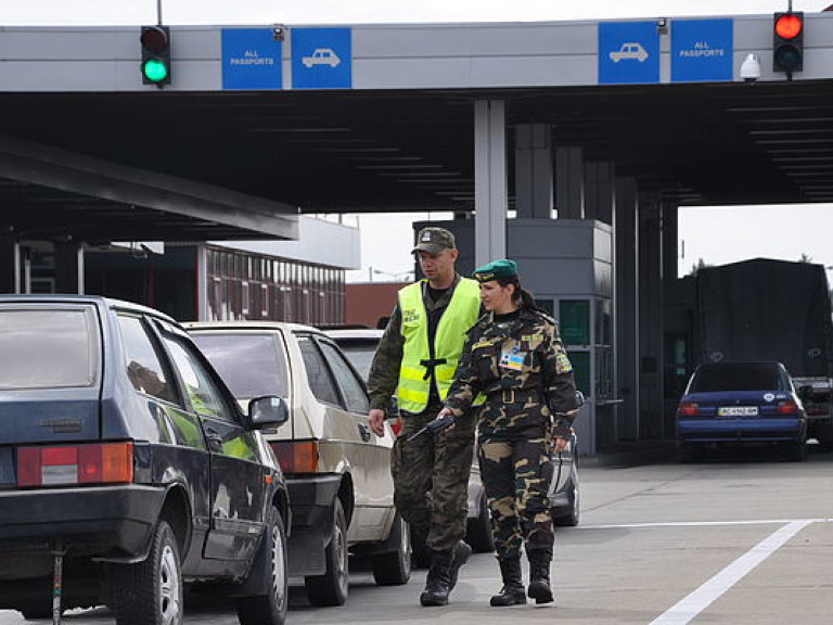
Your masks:
[{"label": "man in camouflage cap and yellow high-visibility vest", "polygon": [[396,394],[402,431],[392,457],[394,502],[432,551],[420,602],[445,605],[472,552],[463,537],[474,424],[408,438],[443,407],[480,301],[477,283],[454,270],[458,251],[451,232],[424,228],[413,253],[426,279],[399,291],[368,378],[369,422],[376,435],[384,434],[385,411]]}]

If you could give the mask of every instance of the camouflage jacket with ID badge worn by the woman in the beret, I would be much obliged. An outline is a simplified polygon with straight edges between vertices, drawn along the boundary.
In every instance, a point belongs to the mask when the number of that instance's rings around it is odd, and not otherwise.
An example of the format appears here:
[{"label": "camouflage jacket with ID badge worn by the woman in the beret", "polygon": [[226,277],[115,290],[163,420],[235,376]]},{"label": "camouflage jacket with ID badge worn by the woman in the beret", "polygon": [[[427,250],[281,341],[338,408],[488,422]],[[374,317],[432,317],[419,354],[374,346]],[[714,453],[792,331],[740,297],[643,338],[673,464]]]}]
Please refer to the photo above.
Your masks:
[{"label": "camouflage jacket with ID badge worn by the woman in the beret", "polygon": [[572,421],[565,413],[577,408],[573,366],[555,321],[526,308],[509,321],[484,315],[469,331],[446,406],[461,417],[477,393],[486,395],[482,435],[549,423],[551,414]]}]

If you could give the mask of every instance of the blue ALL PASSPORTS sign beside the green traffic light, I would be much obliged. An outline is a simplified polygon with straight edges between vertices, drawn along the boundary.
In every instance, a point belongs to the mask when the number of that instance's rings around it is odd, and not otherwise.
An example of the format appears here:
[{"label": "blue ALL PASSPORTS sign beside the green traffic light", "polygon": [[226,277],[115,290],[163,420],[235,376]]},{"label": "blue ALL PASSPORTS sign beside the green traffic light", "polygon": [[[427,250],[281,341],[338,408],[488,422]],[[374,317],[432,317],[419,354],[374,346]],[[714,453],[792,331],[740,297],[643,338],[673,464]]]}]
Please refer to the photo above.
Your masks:
[{"label": "blue ALL PASSPORTS sign beside the green traffic light", "polygon": [[222,88],[281,89],[281,49],[272,28],[223,28]]}]

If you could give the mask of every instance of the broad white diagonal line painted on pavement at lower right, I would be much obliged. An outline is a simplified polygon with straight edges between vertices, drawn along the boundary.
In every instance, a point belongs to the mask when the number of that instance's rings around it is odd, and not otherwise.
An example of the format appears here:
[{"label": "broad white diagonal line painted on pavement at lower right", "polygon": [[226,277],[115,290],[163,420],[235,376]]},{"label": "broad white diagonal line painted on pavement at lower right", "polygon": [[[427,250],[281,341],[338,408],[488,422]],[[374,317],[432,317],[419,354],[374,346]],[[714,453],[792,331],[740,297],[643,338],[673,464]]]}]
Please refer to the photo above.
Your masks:
[{"label": "broad white diagonal line painted on pavement at lower right", "polygon": [[650,625],[685,625],[812,522],[805,520],[787,523],[738,558],[691,595],[654,618]]}]

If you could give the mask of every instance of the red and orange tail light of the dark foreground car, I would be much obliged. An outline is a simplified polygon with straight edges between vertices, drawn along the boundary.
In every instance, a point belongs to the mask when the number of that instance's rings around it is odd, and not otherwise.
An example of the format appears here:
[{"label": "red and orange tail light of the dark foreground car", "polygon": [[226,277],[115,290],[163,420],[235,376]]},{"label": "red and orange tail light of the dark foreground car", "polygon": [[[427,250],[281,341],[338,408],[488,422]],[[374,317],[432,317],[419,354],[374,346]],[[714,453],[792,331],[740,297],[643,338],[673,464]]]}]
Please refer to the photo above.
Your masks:
[{"label": "red and orange tail light of the dark foreground car", "polygon": [[126,484],[133,481],[133,444],[21,447],[17,486]]}]

